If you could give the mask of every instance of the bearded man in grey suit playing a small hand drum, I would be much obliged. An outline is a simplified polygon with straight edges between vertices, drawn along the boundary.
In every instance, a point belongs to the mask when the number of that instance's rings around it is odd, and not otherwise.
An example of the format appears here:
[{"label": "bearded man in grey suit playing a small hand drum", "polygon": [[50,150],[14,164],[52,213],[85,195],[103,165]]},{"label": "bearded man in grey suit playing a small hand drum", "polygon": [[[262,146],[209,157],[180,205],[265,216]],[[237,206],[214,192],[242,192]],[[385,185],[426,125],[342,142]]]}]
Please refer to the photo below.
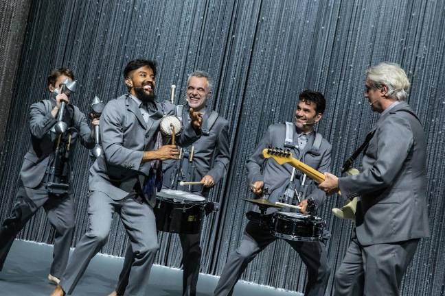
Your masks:
[{"label": "bearded man in grey suit playing a small hand drum", "polygon": [[[52,295],[71,294],[108,238],[117,212],[135,258],[125,295],[148,295],[150,269],[158,249],[155,190],[162,185],[160,160],[175,159],[174,145],[163,145],[159,123],[174,114],[171,104],[155,101],[156,64],[133,60],[124,69],[128,94],[106,104],[100,117],[104,153],[90,169],[89,230],[80,239]],[[201,134],[201,114],[190,110],[190,124],[178,140],[190,145]]]}]

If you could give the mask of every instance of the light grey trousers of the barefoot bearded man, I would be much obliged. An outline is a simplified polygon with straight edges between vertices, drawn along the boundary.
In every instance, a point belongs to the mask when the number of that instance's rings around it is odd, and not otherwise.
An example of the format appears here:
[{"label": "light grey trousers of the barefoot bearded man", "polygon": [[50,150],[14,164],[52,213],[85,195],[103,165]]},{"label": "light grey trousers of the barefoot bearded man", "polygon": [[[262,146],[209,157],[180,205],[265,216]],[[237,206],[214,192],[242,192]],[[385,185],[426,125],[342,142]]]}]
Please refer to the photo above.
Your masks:
[{"label": "light grey trousers of the barefoot bearded man", "polygon": [[135,193],[115,201],[105,193],[93,191],[89,197],[89,229],[78,242],[69,260],[60,286],[71,294],[88,264],[108,239],[113,214],[117,212],[130,238],[135,258],[125,295],[148,295],[148,278],[159,245],[155,214],[146,202],[137,201]]}]

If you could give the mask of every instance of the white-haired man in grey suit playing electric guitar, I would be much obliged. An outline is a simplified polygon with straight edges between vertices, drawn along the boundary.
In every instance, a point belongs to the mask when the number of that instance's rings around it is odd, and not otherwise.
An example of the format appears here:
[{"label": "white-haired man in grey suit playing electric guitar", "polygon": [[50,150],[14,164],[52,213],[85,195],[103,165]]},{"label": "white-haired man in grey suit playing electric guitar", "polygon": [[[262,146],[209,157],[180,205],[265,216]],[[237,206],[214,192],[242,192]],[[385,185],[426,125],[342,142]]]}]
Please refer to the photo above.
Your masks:
[{"label": "white-haired man in grey suit playing electric guitar", "polygon": [[380,113],[358,175],[326,173],[319,188],[359,196],[356,227],[335,274],[334,295],[398,295],[402,277],[422,237],[426,213],[426,141],[405,102],[409,80],[398,64],[367,69],[365,97]]}]

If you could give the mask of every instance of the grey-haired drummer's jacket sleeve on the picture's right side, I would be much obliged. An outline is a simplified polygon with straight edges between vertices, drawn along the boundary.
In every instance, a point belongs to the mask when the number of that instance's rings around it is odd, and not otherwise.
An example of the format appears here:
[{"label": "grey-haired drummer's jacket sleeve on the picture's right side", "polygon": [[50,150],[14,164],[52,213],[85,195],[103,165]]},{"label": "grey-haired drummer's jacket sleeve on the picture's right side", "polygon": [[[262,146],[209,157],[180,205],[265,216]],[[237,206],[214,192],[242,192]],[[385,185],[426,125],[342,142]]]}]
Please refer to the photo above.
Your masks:
[{"label": "grey-haired drummer's jacket sleeve on the picture's right side", "polygon": [[227,173],[227,167],[230,162],[229,149],[229,123],[226,121],[221,132],[217,136],[216,153],[212,169],[206,174],[214,178],[215,184],[218,184]]}]

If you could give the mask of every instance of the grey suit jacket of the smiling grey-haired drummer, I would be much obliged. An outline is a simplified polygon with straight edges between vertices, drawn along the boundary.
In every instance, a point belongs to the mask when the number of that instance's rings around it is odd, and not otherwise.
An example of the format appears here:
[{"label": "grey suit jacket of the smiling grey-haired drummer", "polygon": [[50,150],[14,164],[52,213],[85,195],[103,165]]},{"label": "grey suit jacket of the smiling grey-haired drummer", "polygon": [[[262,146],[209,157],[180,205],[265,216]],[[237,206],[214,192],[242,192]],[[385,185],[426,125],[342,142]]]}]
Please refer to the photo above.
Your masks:
[{"label": "grey suit jacket of the smiling grey-haired drummer", "polygon": [[[183,110],[183,125],[186,125],[190,116],[188,112]],[[205,110],[203,116],[203,127],[207,127],[210,110]],[[227,173],[227,167],[230,162],[230,149],[229,149],[229,122],[223,119],[222,116],[218,116],[214,125],[209,130],[208,134],[203,133],[201,138],[193,143],[194,156],[193,164],[194,175],[187,175],[189,162],[187,158],[184,158],[182,164],[182,170],[185,173],[185,177],[190,181],[200,181],[205,175],[211,175],[214,178],[215,184],[218,184],[221,179]],[[190,150],[191,147],[189,147]],[[178,160],[168,160],[163,162],[163,184],[165,187],[170,188],[172,186],[172,180],[174,177],[174,169]],[[178,186],[179,190],[188,190],[188,186]],[[202,185],[194,185],[190,188],[191,192],[199,193],[207,196],[209,189],[203,188]]]}]

